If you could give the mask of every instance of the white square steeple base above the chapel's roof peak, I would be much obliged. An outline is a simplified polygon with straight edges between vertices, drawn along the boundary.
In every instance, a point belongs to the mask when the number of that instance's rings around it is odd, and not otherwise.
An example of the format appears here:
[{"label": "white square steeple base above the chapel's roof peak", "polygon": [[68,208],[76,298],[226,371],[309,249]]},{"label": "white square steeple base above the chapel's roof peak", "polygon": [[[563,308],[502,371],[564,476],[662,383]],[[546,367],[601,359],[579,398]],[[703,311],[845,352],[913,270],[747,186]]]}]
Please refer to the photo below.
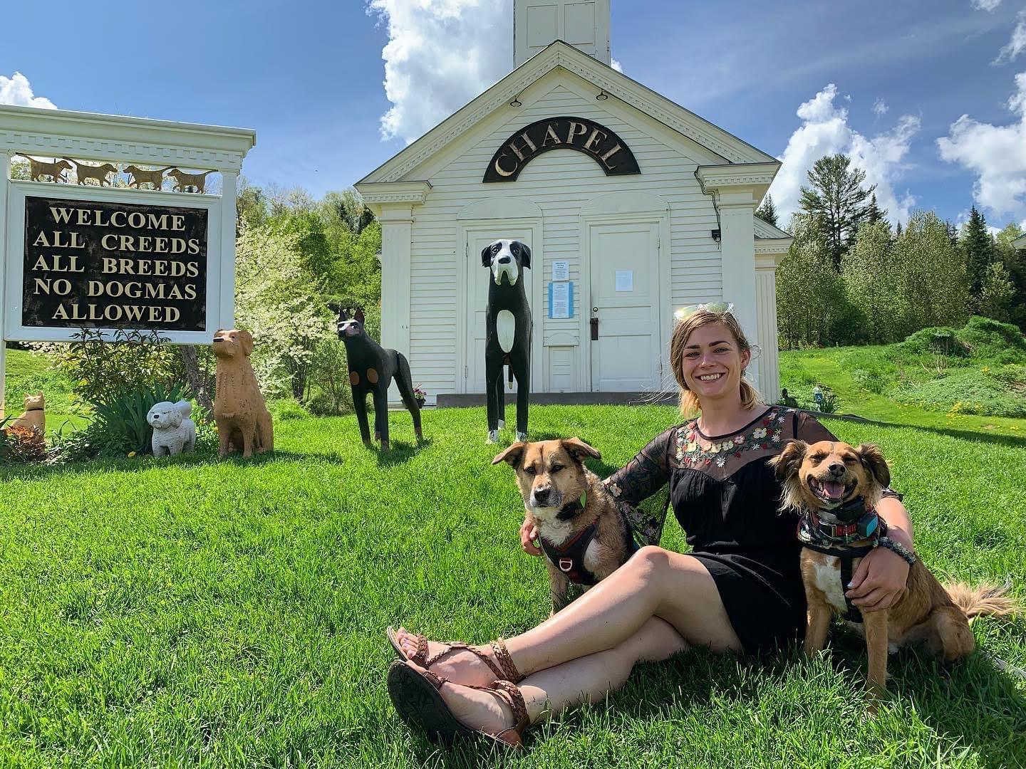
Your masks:
[{"label": "white square steeple base above the chapel's roof peak", "polygon": [[513,66],[556,40],[609,64],[610,0],[513,0]]}]

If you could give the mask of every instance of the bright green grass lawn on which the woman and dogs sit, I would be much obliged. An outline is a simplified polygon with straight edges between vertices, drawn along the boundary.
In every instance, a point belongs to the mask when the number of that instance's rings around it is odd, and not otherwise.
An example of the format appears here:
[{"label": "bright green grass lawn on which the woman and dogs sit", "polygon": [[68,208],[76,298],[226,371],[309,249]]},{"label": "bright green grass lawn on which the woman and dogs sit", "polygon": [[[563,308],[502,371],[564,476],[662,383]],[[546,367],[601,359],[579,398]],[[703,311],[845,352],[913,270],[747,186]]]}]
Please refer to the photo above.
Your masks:
[{"label": "bright green grass lawn on which the woman and dogs sit", "polygon": [[[846,409],[845,409],[846,410]],[[548,614],[520,551],[512,471],[483,409],[391,414],[394,450],[353,417],[276,426],[274,456],[0,469],[0,765],[1015,767],[1026,765],[1026,618],[981,619],[952,671],[902,651],[865,717],[862,643],[765,659],[703,651],[641,665],[607,704],[535,729],[501,760],[438,752],[388,700],[384,631],[483,642]],[[580,436],[620,467],[675,422],[663,407],[536,407],[531,437]],[[1021,420],[1020,420],[1021,421]],[[1026,600],[1026,439],[831,420],[878,442],[950,577]],[[509,431],[503,436],[511,438]],[[664,544],[683,547],[675,523]]]}]

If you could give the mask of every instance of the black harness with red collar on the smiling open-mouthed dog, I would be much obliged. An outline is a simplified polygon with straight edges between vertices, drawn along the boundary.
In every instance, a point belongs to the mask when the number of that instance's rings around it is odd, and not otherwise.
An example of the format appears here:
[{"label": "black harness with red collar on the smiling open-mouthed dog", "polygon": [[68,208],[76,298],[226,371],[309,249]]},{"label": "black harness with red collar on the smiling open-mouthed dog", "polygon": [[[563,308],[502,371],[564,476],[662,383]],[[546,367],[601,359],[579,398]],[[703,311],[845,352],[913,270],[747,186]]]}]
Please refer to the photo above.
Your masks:
[{"label": "black harness with red collar on the smiling open-mouthed dog", "polygon": [[[847,584],[852,581],[854,573],[852,564],[855,559],[864,558],[876,547],[877,540],[887,533],[886,522],[876,514],[875,510],[866,510],[862,497],[856,497],[833,513],[839,520],[843,521],[845,518],[854,517],[860,511],[863,515],[851,523],[828,523],[816,515],[815,511],[805,513],[798,522],[798,541],[801,542],[801,547],[840,559],[841,595],[847,592]],[[872,541],[858,548],[846,547],[850,542],[864,539]],[[862,612],[846,595],[844,595],[844,604],[847,606],[847,611],[843,615],[844,619],[861,623]]]}]

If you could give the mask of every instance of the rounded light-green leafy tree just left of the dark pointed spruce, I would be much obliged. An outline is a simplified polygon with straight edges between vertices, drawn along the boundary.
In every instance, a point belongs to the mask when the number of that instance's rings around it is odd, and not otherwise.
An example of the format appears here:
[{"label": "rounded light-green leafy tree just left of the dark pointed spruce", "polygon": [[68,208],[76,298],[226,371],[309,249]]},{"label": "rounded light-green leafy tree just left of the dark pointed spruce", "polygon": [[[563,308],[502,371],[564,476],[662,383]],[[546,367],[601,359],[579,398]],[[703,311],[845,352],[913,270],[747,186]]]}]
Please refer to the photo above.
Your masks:
[{"label": "rounded light-green leafy tree just left of the dark pointed spruce", "polygon": [[902,336],[926,326],[960,326],[969,318],[965,261],[933,211],[916,211],[895,240],[896,309]]}]

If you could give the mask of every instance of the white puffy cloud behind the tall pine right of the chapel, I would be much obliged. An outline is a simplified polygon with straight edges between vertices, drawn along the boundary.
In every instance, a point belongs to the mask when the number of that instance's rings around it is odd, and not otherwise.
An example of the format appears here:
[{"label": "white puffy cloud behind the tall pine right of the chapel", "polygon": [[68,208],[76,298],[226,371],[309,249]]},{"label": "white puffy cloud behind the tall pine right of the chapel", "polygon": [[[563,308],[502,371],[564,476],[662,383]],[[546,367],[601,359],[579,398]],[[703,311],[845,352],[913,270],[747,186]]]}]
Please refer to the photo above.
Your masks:
[{"label": "white puffy cloud behind the tall pine right of the chapel", "polygon": [[844,153],[852,165],[866,172],[865,184],[876,185],[876,202],[887,210],[892,221],[906,221],[915,205],[908,192],[899,195],[895,185],[905,170],[903,160],[919,131],[919,118],[904,115],[890,131],[872,138],[854,130],[847,123],[847,110],[834,106],[837,86],[827,85],[808,102],[798,107],[802,125],[787,143],[779,159],[784,162],[770,189],[774,203],[787,221],[798,210],[801,186],[808,184],[808,170],[824,155]]}]

